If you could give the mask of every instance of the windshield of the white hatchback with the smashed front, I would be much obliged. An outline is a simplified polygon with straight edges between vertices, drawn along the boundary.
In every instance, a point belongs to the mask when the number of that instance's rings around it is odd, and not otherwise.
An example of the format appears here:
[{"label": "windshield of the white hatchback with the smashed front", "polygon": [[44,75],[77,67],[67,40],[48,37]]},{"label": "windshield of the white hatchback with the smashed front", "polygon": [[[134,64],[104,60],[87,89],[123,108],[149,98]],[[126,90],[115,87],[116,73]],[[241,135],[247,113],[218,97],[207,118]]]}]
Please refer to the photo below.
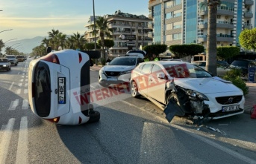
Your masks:
[{"label": "windshield of the white hatchback with the smashed front", "polygon": [[182,64],[166,64],[163,65],[166,68],[167,73],[169,73],[172,77],[177,78],[202,78],[202,77],[212,77],[210,73],[206,70],[192,65],[190,63],[182,63]]}]

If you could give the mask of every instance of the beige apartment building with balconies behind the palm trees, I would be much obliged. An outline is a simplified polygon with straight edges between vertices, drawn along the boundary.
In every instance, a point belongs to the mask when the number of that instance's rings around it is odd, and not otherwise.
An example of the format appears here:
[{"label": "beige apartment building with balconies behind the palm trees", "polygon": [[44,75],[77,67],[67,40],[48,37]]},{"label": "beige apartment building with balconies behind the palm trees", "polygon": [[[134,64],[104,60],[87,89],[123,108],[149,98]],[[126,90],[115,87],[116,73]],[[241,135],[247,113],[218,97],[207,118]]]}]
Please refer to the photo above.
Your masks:
[{"label": "beige apartment building with balconies behind the palm trees", "polygon": [[[117,10],[113,15],[107,14],[104,16],[107,19],[107,24],[110,29],[113,30],[111,36],[115,43],[113,47],[107,50],[108,56],[125,56],[128,51],[128,46],[132,49],[139,49],[140,46],[149,45],[152,43],[152,27],[150,26],[152,19],[146,16],[134,15],[130,13],[122,13]],[[149,23],[150,22],[150,23]],[[90,17],[85,32],[85,38],[89,42],[94,42],[95,36],[93,36],[93,17]],[[135,36],[134,40],[122,39],[120,36]],[[99,35],[96,36],[96,40],[99,39]]]}]

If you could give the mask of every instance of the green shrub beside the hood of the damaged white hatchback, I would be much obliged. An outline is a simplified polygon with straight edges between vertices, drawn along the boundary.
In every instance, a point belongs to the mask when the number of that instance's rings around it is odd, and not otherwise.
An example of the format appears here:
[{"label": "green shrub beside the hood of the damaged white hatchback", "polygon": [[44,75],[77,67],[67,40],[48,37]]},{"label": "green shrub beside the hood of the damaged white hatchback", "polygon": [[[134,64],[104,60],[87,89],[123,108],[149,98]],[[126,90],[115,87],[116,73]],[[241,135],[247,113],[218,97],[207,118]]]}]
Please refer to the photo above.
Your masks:
[{"label": "green shrub beside the hood of the damaged white hatchback", "polygon": [[246,86],[246,82],[241,79],[241,70],[231,69],[229,70],[223,79],[231,81],[234,85],[243,91],[243,95],[249,94],[249,87]]}]

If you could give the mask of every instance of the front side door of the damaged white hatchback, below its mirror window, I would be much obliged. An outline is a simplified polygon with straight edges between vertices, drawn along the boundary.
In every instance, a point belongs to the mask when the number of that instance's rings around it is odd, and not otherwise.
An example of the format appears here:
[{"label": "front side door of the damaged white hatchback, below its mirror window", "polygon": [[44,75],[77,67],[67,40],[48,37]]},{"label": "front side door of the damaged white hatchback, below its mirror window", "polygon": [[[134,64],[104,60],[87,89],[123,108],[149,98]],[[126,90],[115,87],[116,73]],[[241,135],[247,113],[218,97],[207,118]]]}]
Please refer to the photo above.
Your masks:
[{"label": "front side door of the damaged white hatchback, below its mirror window", "polygon": [[154,64],[149,74],[149,83],[147,94],[156,99],[158,102],[164,103],[166,89],[166,74],[160,65]]}]

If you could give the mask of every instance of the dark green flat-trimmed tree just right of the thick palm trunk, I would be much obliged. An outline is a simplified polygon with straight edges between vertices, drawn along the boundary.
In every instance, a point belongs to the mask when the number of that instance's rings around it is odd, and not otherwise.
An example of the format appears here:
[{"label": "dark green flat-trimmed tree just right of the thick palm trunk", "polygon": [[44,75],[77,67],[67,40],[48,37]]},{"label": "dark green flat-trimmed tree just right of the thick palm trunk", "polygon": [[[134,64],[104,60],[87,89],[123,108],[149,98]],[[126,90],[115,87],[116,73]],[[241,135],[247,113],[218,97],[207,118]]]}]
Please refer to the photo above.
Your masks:
[{"label": "dark green flat-trimmed tree just right of the thick palm trunk", "polygon": [[240,47],[223,46],[217,47],[217,58],[220,60],[229,59],[240,53]]}]

